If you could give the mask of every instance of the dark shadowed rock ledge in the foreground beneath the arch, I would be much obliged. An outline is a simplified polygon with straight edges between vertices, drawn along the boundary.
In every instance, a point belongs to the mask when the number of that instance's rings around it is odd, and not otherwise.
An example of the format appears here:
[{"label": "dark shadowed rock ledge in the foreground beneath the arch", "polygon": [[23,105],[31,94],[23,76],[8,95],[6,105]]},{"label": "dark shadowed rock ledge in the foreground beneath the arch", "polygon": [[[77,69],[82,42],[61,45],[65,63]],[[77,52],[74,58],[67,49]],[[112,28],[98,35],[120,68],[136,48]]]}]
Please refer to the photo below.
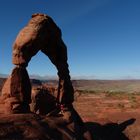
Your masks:
[{"label": "dark shadowed rock ledge in the foreground beneath the arch", "polygon": [[41,117],[36,114],[0,116],[1,140],[86,140],[89,139],[88,133],[77,118],[67,121],[63,117]]}]

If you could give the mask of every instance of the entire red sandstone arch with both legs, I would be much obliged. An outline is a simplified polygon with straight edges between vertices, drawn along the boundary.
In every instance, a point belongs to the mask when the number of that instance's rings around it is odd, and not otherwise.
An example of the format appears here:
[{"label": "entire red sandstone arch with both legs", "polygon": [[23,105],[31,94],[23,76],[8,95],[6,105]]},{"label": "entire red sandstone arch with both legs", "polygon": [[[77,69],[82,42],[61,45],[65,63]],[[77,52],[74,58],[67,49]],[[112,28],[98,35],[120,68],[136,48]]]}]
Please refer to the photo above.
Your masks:
[{"label": "entire red sandstone arch with both legs", "polygon": [[23,112],[28,110],[28,104],[31,102],[31,85],[26,67],[39,50],[49,57],[58,70],[57,104],[68,106],[74,100],[67,48],[62,40],[61,30],[48,15],[34,14],[13,44],[12,62],[16,67],[11,74],[10,96],[21,102],[18,108]]}]

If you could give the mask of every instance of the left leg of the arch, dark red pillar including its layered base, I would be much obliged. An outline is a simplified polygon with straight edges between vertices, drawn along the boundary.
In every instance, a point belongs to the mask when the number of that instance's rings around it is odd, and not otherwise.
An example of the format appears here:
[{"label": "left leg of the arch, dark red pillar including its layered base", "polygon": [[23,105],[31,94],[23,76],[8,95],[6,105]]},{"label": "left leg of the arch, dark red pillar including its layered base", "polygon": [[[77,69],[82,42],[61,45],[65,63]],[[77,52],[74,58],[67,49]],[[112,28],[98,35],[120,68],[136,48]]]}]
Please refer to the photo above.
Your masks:
[{"label": "left leg of the arch, dark red pillar including its layered base", "polygon": [[18,102],[11,103],[11,112],[29,112],[29,104],[31,102],[31,84],[26,68],[15,67],[13,69],[11,74],[10,94],[11,97],[14,97]]}]

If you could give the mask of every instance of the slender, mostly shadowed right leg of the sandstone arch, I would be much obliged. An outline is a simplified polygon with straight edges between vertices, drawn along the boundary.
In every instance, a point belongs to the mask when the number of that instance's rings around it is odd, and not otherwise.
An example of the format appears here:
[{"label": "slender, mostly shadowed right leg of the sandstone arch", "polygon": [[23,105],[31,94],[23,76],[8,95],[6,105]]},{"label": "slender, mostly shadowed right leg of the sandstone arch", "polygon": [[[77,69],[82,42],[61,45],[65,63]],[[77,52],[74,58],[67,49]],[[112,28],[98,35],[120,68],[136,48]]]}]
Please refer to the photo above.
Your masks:
[{"label": "slender, mostly shadowed right leg of the sandstone arch", "polygon": [[[53,48],[52,48],[53,49]],[[59,86],[58,86],[58,102],[60,104],[72,104],[74,101],[74,89],[71,83],[68,63],[67,63],[67,48],[62,39],[57,43],[54,51],[48,52],[48,50],[42,49],[51,62],[56,66],[58,70]]]}]

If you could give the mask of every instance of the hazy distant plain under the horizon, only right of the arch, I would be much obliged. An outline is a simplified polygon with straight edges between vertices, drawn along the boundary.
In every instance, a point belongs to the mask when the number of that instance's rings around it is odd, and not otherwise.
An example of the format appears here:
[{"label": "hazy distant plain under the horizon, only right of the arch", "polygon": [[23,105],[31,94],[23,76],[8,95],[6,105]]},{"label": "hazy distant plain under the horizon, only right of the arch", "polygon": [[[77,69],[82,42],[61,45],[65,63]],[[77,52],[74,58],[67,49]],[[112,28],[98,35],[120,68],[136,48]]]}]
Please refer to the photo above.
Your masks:
[{"label": "hazy distant plain under the horizon, only right of the arch", "polygon": [[140,80],[73,80],[73,85],[86,91],[140,93]]}]

